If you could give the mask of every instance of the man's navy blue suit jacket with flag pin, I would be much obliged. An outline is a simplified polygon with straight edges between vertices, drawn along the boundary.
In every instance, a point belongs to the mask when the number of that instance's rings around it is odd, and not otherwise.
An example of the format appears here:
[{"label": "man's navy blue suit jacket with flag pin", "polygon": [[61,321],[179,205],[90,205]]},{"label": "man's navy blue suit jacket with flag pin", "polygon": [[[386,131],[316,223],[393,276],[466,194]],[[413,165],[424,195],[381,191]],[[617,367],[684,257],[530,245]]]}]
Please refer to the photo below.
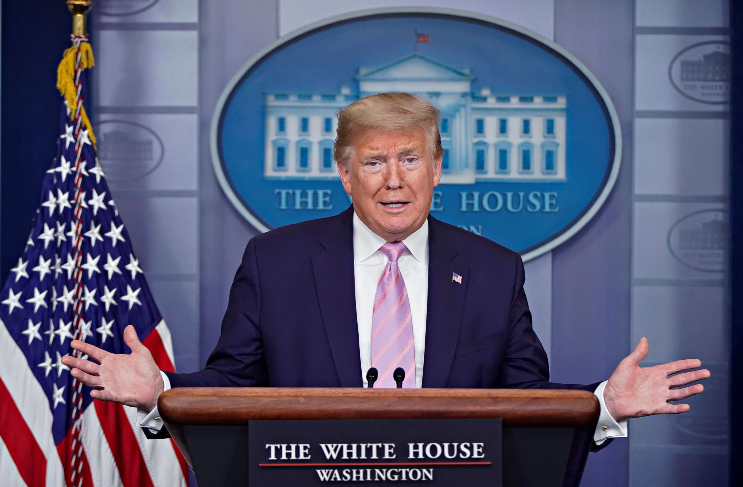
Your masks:
[{"label": "man's navy blue suit jacket with flag pin", "polygon": [[[172,387],[361,387],[352,216],[349,207],[251,239],[207,366],[166,372]],[[519,254],[432,216],[428,222],[423,387],[595,390],[549,381]],[[584,451],[590,433],[577,439]],[[580,479],[580,471],[568,474]]]}]

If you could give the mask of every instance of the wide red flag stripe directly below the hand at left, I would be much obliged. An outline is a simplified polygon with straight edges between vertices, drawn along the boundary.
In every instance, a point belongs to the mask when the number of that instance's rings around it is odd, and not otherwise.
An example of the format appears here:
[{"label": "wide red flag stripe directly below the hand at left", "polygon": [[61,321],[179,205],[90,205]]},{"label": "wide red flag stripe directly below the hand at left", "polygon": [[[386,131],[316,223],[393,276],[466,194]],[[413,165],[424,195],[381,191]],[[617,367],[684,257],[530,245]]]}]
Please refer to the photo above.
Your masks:
[{"label": "wide red flag stripe directly below the hand at left", "polygon": [[111,448],[124,487],[154,487],[142,451],[124,407],[115,402],[93,400],[100,427]]}]

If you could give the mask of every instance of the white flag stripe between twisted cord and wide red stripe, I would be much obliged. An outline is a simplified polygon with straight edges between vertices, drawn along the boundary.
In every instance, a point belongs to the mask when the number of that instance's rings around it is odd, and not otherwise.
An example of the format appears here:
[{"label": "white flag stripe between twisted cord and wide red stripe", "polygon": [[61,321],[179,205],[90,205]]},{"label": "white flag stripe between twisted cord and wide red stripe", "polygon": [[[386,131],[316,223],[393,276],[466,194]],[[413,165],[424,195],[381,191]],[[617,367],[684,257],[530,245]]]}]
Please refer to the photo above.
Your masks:
[{"label": "white flag stripe between twisted cord and wide red stripe", "polygon": [[88,407],[82,413],[82,447],[85,448],[96,487],[123,487],[114,455],[103,435],[94,407]]}]

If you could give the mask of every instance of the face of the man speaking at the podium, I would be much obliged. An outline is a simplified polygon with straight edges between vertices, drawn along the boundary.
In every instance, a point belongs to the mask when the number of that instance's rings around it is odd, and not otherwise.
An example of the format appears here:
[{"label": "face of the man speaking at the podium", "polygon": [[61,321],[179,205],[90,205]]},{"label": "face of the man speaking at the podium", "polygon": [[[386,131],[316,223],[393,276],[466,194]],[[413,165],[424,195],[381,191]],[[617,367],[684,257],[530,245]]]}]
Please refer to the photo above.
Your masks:
[{"label": "face of the man speaking at the podium", "polygon": [[441,179],[423,130],[364,132],[347,164],[339,164],[343,189],[362,222],[388,242],[421,228]]}]

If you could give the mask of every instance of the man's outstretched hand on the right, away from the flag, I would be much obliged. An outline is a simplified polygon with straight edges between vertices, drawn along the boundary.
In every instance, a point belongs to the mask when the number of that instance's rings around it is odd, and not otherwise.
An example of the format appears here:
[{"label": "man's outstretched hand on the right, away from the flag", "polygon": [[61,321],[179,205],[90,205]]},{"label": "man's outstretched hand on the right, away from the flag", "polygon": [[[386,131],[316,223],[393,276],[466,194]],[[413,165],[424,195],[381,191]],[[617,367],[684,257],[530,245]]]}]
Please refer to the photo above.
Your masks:
[{"label": "man's outstretched hand on the right, away from the flag", "polygon": [[687,399],[704,390],[702,384],[683,389],[672,387],[681,387],[708,378],[710,371],[707,369],[669,377],[684,370],[701,367],[698,359],[687,358],[653,367],[640,367],[640,362],[647,354],[648,341],[643,337],[635,350],[617,365],[606,384],[604,401],[609,413],[617,421],[652,414],[685,413],[690,408],[689,404],[669,404],[668,401]]}]

